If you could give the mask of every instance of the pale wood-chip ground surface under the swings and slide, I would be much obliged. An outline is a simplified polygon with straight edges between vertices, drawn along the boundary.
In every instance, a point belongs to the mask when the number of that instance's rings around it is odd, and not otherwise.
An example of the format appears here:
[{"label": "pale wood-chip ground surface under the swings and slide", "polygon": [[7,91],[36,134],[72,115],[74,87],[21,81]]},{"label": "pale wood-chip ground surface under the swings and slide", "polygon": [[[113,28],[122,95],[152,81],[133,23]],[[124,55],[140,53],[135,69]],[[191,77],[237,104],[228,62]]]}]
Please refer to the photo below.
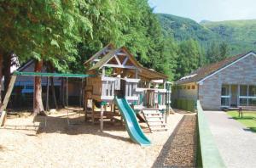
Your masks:
[{"label": "pale wood-chip ground surface under the swings and slide", "polygon": [[[131,142],[125,126],[104,122],[104,132],[99,124],[84,122],[84,116],[71,115],[67,126],[66,113],[59,112],[38,117],[7,120],[0,129],[0,167],[151,167],[163,145],[171,136],[183,115],[170,115],[167,132],[146,133],[153,145],[141,147]],[[147,130],[145,130],[147,132]]]}]

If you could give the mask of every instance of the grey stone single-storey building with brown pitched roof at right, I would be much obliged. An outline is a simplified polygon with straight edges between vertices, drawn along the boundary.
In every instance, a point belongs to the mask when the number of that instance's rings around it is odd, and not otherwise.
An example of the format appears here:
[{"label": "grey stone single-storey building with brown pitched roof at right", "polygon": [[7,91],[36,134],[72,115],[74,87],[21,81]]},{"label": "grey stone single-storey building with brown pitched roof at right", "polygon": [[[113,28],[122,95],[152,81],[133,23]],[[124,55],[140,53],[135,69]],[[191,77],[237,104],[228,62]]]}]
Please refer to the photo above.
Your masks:
[{"label": "grey stone single-storey building with brown pitched roof at right", "polygon": [[256,53],[195,70],[175,82],[172,98],[199,99],[203,109],[256,106]]}]

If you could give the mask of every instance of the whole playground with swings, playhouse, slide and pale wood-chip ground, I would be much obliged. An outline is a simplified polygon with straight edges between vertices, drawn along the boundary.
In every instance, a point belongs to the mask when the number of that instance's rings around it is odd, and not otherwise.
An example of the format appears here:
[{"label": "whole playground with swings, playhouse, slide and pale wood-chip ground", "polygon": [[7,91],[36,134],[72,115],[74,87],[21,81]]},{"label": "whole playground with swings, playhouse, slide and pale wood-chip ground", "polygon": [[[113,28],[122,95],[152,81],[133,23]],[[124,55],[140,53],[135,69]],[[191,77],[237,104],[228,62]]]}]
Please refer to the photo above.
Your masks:
[{"label": "whole playground with swings, playhouse, slide and pale wood-chip ground", "polygon": [[[108,44],[88,59],[86,74],[15,71],[1,106],[3,167],[150,167],[183,115],[172,114],[167,76],[139,64],[127,48]],[[48,115],[13,113],[17,78],[66,79],[66,106]],[[81,80],[80,107],[68,105],[68,78]],[[48,85],[49,86],[49,85]],[[46,104],[49,104],[47,87]],[[47,109],[47,108],[46,108]]]}]

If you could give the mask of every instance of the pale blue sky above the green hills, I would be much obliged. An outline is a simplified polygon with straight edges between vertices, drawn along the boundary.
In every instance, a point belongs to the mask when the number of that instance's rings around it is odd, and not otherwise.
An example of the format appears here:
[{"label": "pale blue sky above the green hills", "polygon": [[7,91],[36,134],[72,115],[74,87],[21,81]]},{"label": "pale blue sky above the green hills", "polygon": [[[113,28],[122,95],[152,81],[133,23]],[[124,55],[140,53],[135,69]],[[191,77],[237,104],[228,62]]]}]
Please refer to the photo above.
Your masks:
[{"label": "pale blue sky above the green hills", "polygon": [[148,0],[154,13],[201,20],[256,19],[256,0]]}]

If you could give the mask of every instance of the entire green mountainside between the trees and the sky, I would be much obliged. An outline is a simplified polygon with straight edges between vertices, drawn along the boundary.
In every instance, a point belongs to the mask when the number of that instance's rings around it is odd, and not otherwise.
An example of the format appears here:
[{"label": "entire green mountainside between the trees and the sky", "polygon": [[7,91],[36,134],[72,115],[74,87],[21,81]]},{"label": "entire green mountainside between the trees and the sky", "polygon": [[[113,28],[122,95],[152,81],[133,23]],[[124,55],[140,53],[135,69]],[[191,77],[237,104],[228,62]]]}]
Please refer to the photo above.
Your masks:
[{"label": "entire green mountainside between the trees and the sky", "polygon": [[256,20],[232,20],[201,23],[172,14],[158,14],[164,36],[173,36],[177,41],[192,38],[205,49],[212,42],[225,42],[230,54],[256,50]]}]

